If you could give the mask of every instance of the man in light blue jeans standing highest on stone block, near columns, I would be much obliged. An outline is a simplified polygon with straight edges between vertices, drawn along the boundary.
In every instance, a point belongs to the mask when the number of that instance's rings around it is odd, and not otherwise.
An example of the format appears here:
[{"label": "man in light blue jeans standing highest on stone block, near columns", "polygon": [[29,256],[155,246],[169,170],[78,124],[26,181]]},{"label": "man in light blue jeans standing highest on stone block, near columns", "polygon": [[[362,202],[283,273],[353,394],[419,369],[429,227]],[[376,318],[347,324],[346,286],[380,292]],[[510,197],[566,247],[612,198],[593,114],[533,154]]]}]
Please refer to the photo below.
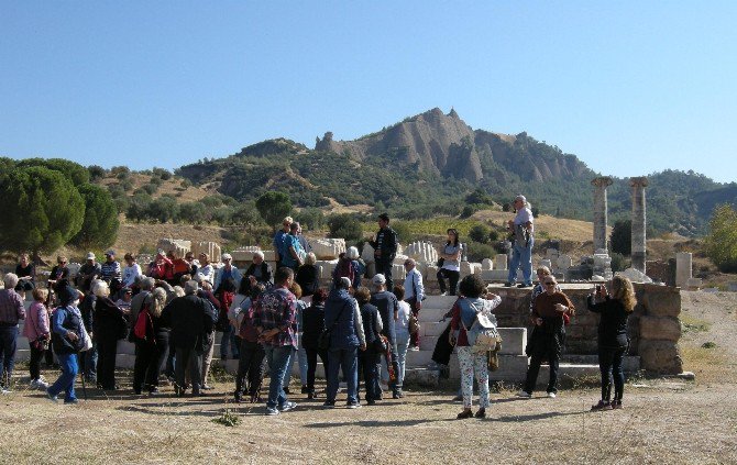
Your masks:
[{"label": "man in light blue jeans standing highest on stone block, near columns", "polygon": [[525,196],[517,196],[514,206],[517,215],[514,220],[509,220],[507,225],[514,236],[514,242],[509,275],[505,286],[512,287],[517,283],[517,269],[521,267],[524,281],[517,287],[532,287],[532,246],[535,245],[532,211]]}]

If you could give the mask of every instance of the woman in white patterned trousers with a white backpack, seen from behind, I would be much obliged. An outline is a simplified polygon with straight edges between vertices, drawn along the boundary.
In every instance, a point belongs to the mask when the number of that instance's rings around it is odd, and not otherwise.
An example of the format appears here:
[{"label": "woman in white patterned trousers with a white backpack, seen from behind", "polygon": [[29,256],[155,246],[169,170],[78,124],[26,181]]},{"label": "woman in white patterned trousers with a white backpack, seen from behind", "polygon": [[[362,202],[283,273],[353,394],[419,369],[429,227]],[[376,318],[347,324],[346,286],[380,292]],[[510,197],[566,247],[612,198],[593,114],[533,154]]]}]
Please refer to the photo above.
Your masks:
[{"label": "woman in white patterned trousers with a white backpack, seen from behind", "polygon": [[486,417],[488,401],[488,367],[486,352],[475,351],[470,342],[472,326],[480,319],[487,319],[496,323],[492,310],[502,303],[502,298],[495,294],[487,294],[484,281],[479,275],[469,275],[461,280],[459,287],[462,298],[455,301],[451,309],[452,320],[450,322],[450,342],[458,350],[458,361],[461,365],[461,390],[463,392],[463,411],[458,414],[459,419],[474,417],[471,411],[471,398],[473,396],[473,377],[475,375],[479,384],[479,410],[476,418]]}]

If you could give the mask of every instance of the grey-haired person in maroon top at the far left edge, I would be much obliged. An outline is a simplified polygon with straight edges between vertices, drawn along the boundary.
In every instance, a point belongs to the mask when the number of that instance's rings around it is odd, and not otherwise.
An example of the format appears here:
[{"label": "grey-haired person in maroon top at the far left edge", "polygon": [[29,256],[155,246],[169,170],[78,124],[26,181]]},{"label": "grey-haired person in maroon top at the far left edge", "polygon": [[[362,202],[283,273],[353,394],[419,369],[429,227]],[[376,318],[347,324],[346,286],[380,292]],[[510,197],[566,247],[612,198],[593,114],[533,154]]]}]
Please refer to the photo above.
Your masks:
[{"label": "grey-haired person in maroon top at the far left edge", "polygon": [[13,367],[15,366],[15,350],[18,348],[18,322],[25,320],[23,299],[15,291],[18,275],[8,273],[0,289],[0,391],[8,394],[11,390]]}]

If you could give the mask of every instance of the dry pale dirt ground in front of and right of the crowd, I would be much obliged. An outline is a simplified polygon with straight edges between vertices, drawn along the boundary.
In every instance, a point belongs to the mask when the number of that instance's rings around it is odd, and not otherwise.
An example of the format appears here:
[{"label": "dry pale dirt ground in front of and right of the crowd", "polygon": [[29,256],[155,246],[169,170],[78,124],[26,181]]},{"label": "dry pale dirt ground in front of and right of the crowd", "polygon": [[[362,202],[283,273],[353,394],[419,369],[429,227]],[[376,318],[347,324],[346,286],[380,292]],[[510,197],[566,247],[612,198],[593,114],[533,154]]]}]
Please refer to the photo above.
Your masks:
[{"label": "dry pale dirt ground in front of and right of the crowd", "polygon": [[[184,400],[90,391],[74,407],[19,388],[0,398],[0,463],[737,463],[737,296],[683,292],[682,315],[696,380],[629,379],[618,411],[588,411],[595,386],[530,400],[509,386],[485,420],[455,420],[455,386],[359,410],[296,395],[278,417],[229,403],[228,383]],[[212,421],[227,411],[240,424]]]}]

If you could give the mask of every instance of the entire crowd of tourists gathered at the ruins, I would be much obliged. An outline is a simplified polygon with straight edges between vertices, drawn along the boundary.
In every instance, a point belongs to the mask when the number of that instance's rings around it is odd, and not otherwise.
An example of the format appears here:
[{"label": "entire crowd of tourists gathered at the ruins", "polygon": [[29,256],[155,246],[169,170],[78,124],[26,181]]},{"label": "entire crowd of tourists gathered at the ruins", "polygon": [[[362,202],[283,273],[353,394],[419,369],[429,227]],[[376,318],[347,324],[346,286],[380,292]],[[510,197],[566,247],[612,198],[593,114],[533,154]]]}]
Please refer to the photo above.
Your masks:
[{"label": "entire crowd of tourists gathered at the ruins", "polygon": [[[527,287],[532,286],[534,219],[522,196],[517,197],[515,207],[517,217],[509,222],[515,236],[514,269],[507,286],[516,284],[520,267],[520,287]],[[337,406],[341,385],[346,391],[345,406],[351,409],[360,408],[362,400],[373,406],[388,396],[400,399],[405,396],[407,353],[419,350],[418,315],[426,291],[411,258],[404,262],[404,283],[394,284],[397,235],[386,214],[378,217],[378,226],[369,241],[377,273],[367,286],[363,286],[366,266],[358,248],[351,246],[341,254],[330,285],[321,287],[317,258],[299,224],[288,217],[274,236],[275,268],[262,252],[255,252],[252,264],[241,270],[227,253],[222,265],[216,267],[207,254],[178,256],[158,251],[144,269],[130,253],[121,265],[110,250],[102,263],[89,253],[74,281],[67,258],[58,256],[47,286],[36,287],[33,265],[28,255],[21,255],[16,273],[4,275],[0,290],[2,392],[12,389],[19,321],[24,320],[30,386],[45,390],[53,401],[63,394],[65,403],[78,402],[78,375],[85,388],[90,384],[106,391],[119,390],[117,348],[125,339],[135,346],[132,385],[136,395],[160,395],[161,384],[170,383],[176,396],[205,396],[212,389],[210,368],[217,332],[221,333],[220,358],[238,359],[233,400],[264,401],[266,414],[297,407],[290,400],[297,392],[289,389],[295,363],[300,394],[309,400],[320,399],[326,408]],[[477,275],[460,279],[462,248],[458,231],[448,230],[438,279],[441,292],[457,296],[457,300],[446,314],[450,323],[435,346],[432,359],[447,367],[451,353],[458,353],[463,402],[458,418],[484,418],[490,407],[488,369],[497,361],[499,342],[494,309],[502,298],[488,292]],[[534,328],[527,345],[530,364],[518,396],[532,396],[540,365],[548,361],[546,391],[554,398],[565,326],[575,308],[548,268],[538,268],[537,276],[529,308]],[[26,292],[33,299],[28,311]],[[635,303],[632,285],[624,277],[614,278],[610,295],[606,286],[597,286],[588,297],[587,309],[602,314],[602,398],[593,410],[622,408],[627,318]],[[322,392],[315,383],[318,358],[327,379]],[[41,374],[44,359],[47,365],[57,363],[61,369],[53,383]],[[263,386],[266,374],[268,386]],[[479,390],[475,413],[474,378]]]}]

